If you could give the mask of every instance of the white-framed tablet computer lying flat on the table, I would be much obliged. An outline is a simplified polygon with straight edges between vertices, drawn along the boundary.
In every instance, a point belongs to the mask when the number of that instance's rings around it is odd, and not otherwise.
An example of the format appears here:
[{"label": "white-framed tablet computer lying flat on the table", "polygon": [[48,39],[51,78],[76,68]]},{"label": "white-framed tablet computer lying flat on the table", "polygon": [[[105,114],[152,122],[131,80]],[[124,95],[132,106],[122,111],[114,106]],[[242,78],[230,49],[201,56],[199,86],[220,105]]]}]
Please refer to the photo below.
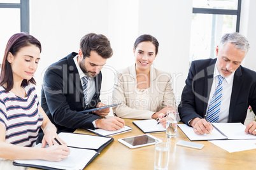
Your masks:
[{"label": "white-framed tablet computer lying flat on the table", "polygon": [[154,145],[157,138],[151,134],[141,134],[127,138],[118,139],[118,141],[129,148],[139,148],[148,145]]}]

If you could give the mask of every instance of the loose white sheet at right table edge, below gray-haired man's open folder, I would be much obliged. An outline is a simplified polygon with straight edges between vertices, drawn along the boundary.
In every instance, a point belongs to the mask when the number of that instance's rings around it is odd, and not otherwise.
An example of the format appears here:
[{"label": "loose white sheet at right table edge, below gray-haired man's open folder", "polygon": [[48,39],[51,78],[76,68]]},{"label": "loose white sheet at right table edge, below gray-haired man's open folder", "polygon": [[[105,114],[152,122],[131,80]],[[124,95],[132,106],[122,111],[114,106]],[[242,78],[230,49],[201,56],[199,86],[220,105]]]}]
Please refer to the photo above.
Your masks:
[{"label": "loose white sheet at right table edge, below gray-haired man's open folder", "polygon": [[229,153],[256,148],[256,140],[211,140],[210,142]]}]

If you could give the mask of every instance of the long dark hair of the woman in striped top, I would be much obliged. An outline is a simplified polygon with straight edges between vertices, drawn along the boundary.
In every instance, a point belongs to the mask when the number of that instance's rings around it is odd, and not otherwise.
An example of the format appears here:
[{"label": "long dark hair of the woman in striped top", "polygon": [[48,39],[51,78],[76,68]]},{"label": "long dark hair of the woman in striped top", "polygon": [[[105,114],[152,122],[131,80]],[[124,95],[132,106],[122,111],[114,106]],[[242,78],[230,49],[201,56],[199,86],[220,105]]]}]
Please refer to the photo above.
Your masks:
[{"label": "long dark hair of the woman in striped top", "polygon": [[[15,56],[21,48],[30,45],[37,46],[41,53],[41,43],[38,41],[38,39],[25,32],[14,34],[7,42],[0,75],[0,85],[3,86],[6,84],[6,91],[10,91],[13,88],[13,72],[11,70],[11,64],[7,60],[8,53],[10,52],[13,56]],[[24,79],[21,85],[25,87],[29,84],[29,82],[36,84],[36,81],[32,77],[30,80]]]}]

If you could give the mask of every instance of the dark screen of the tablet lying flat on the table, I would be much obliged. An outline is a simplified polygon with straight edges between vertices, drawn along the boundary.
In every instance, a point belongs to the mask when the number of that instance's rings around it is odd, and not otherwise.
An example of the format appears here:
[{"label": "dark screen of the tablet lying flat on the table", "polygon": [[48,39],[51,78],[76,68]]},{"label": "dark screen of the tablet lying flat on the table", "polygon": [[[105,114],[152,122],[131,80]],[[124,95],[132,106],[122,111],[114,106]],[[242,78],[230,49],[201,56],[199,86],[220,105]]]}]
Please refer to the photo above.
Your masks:
[{"label": "dark screen of the tablet lying flat on the table", "polygon": [[127,143],[134,147],[138,145],[145,145],[148,143],[155,143],[155,139],[146,134],[141,136],[134,136],[131,138],[123,138],[122,140],[126,141]]}]

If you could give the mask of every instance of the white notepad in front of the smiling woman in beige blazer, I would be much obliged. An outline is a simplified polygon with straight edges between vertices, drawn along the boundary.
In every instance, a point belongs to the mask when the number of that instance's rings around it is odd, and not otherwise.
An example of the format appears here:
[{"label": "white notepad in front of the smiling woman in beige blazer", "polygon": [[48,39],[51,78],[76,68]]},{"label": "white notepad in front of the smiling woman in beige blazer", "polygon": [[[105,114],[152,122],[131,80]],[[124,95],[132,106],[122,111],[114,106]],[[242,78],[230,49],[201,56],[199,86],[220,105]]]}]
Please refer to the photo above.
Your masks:
[{"label": "white notepad in front of the smiling woman in beige blazer", "polygon": [[160,133],[166,131],[166,128],[161,124],[157,124],[155,119],[133,121],[132,123],[143,131],[143,133]]}]

